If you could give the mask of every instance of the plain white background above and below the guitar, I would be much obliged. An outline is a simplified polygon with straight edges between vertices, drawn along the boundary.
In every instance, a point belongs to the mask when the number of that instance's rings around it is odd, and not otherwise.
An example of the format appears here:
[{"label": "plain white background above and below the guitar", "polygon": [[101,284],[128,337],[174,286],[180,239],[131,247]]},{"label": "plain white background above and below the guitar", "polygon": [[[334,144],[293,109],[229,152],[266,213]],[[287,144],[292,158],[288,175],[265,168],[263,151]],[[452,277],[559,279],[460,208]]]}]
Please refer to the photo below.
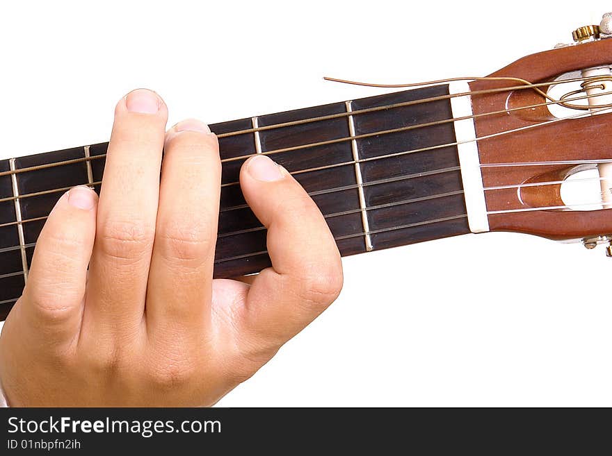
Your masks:
[{"label": "plain white background above and below the guitar", "polygon": [[[170,124],[213,123],[385,92],[324,75],[484,76],[570,41],[609,9],[6,2],[0,158],[108,140],[113,106],[134,87],[164,97]],[[338,301],[220,405],[612,405],[612,260],[602,250],[490,233],[358,255],[344,267]]]}]

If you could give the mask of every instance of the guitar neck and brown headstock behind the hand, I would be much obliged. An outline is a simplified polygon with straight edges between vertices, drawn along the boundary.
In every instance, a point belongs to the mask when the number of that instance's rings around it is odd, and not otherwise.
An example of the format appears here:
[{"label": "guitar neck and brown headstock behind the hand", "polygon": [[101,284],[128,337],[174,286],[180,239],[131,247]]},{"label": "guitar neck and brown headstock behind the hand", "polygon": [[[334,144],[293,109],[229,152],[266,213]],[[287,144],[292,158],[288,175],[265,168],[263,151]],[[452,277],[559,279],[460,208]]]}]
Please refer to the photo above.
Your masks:
[{"label": "guitar neck and brown headstock behind the hand", "polygon": [[[610,32],[606,16],[577,29],[576,44],[485,78],[212,124],[223,160],[215,276],[270,265],[266,231],[238,185],[255,153],[305,187],[342,255],[489,231],[608,244],[612,255]],[[0,161],[2,318],[61,194],[83,184],[99,192],[107,145]],[[568,203],[572,178],[597,191]]]}]

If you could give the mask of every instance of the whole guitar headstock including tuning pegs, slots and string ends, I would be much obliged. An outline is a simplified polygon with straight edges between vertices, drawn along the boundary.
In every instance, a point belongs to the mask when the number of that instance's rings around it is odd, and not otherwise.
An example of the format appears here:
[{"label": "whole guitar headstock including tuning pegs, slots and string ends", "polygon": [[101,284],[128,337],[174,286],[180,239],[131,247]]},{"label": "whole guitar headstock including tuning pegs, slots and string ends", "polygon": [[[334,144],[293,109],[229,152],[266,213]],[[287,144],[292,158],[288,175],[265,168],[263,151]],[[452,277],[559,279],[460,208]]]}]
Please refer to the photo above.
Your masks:
[{"label": "whole guitar headstock including tuning pegs, slots and string ends", "polygon": [[[516,80],[469,84],[490,230],[581,239],[590,247],[612,239],[611,33],[606,15],[601,26],[574,31],[577,44],[490,75],[529,81],[527,88]],[[560,105],[561,115],[550,108]],[[501,113],[486,115],[492,112]],[[591,181],[585,201],[564,201],[572,176],[588,170],[589,177],[574,178]]]}]

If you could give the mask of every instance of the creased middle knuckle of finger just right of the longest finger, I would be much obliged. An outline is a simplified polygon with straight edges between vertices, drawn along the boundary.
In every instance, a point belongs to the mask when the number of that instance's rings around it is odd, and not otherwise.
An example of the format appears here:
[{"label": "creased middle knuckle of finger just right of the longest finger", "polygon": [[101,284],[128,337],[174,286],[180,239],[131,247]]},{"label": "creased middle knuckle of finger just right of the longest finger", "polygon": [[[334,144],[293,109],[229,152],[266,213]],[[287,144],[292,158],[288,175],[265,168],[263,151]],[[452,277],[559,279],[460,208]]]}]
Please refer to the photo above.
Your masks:
[{"label": "creased middle knuckle of finger just right of the longest finger", "polygon": [[216,228],[212,223],[186,223],[174,219],[159,229],[161,253],[168,260],[198,260],[207,256],[216,242]]}]

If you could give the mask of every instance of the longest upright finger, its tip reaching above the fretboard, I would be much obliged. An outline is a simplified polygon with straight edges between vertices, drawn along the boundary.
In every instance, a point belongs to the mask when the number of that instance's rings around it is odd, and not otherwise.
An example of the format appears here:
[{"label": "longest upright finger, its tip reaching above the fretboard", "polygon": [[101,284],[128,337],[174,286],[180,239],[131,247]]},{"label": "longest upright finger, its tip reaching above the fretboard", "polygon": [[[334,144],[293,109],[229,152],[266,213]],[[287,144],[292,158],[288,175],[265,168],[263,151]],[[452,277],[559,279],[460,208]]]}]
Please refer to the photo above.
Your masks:
[{"label": "longest upright finger, its tip reaching above the fretboard", "polygon": [[86,321],[134,334],[143,321],[168,110],[150,90],[119,101],[108,144]]}]

